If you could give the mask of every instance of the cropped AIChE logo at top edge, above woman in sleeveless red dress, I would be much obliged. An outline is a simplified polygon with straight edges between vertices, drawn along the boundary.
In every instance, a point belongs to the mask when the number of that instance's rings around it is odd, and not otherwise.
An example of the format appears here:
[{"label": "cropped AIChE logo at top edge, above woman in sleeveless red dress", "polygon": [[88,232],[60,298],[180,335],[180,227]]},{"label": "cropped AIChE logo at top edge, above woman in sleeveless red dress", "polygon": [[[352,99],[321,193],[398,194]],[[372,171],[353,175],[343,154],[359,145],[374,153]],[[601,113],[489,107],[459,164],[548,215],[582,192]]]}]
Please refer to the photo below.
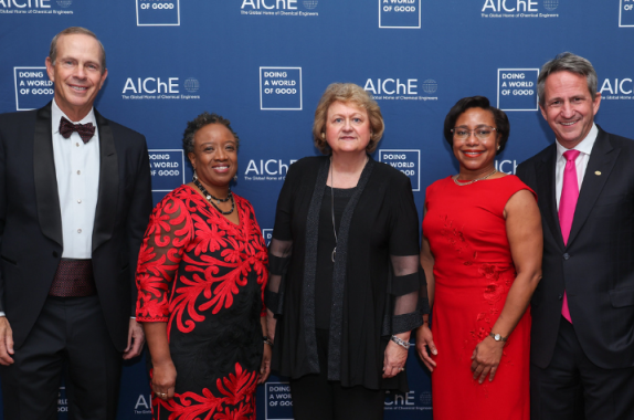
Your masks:
[{"label": "cropped AIChE logo at top edge, above woman in sleeveless red dress", "polygon": [[482,18],[526,19],[526,18],[559,18],[552,13],[559,7],[559,0],[543,0],[540,9],[537,0],[483,0]]}]

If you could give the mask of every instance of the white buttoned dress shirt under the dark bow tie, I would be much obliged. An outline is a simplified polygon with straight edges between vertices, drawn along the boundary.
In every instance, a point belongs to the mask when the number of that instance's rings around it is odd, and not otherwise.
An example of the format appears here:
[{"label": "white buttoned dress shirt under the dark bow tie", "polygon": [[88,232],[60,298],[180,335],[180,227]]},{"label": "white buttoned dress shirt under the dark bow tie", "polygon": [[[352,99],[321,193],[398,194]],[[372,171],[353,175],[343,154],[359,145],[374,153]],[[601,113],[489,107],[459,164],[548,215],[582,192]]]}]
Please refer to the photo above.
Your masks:
[{"label": "white buttoned dress shirt under the dark bow tie", "polygon": [[86,144],[76,132],[64,138],[60,134],[62,117],[74,124],[93,123],[95,128],[97,120],[93,108],[81,122],[73,122],[53,99],[51,128],[62,212],[62,258],[85,260],[93,254],[93,227],[99,190],[99,132],[95,129],[95,135]]}]

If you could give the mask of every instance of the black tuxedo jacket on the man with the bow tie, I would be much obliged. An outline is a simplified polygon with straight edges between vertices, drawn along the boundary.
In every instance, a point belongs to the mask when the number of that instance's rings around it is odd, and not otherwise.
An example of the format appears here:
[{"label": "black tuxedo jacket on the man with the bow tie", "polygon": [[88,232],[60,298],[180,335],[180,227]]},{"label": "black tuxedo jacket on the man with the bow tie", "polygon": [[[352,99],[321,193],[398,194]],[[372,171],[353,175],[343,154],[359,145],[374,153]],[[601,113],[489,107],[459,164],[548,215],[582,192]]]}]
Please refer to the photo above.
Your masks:
[{"label": "black tuxedo jacket on the man with the bow tie", "polygon": [[[115,347],[127,345],[135,272],[151,211],[145,137],[104,118],[93,230],[93,271]],[[0,311],[19,348],[31,330],[62,256],[62,218],[51,133],[51,103],[0,115]]]}]

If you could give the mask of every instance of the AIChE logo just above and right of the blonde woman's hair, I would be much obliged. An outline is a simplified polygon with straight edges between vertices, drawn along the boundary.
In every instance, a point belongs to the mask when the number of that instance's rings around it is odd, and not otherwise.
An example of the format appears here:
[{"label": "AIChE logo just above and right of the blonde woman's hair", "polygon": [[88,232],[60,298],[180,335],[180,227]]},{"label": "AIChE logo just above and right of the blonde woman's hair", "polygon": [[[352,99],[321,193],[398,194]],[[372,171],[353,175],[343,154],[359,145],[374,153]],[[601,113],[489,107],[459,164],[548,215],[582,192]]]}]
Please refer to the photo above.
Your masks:
[{"label": "AIChE logo just above and right of the blonde woman's hair", "polygon": [[418,78],[368,78],[363,90],[374,101],[437,101],[438,84],[433,78],[419,82]]}]

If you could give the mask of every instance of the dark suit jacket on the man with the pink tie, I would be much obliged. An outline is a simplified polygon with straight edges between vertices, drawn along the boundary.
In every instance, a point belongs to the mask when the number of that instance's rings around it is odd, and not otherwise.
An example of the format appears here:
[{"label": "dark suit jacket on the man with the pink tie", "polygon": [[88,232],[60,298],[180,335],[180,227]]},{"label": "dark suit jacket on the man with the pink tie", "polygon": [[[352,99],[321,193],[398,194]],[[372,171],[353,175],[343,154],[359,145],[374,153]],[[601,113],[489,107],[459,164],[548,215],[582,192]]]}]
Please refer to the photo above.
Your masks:
[{"label": "dark suit jacket on the man with the pink tie", "polygon": [[550,364],[563,291],[585,355],[605,368],[634,366],[634,141],[599,135],[583,177],[568,244],[554,191],[556,145],[522,162],[517,176],[537,192],[543,225],[543,277],[531,300],[531,361]]}]

